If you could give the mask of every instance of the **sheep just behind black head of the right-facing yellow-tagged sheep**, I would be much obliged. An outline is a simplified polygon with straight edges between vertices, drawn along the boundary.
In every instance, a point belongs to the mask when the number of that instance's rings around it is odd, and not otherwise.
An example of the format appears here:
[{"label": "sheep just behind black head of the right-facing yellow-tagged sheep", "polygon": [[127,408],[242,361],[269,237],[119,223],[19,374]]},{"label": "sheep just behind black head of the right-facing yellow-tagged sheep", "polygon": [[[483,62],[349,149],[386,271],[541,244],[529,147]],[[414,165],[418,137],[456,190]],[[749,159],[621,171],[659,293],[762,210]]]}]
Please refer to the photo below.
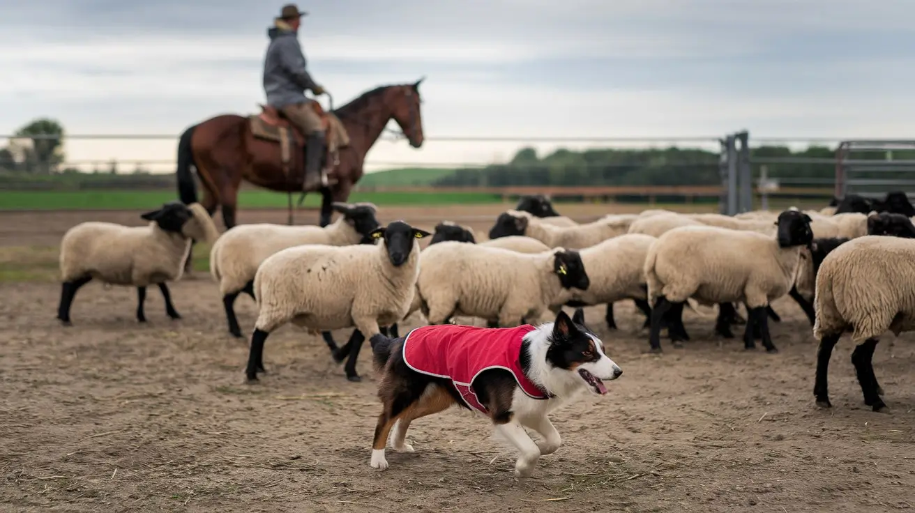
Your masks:
[{"label": "sheep just behind black head of the right-facing yellow-tagged sheep", "polygon": [[578,251],[585,265],[590,286],[587,291],[573,290],[565,305],[577,307],[607,304],[607,324],[616,329],[613,303],[632,299],[646,315],[646,325],[651,319],[651,307],[646,300],[645,256],[655,240],[650,235],[638,233],[620,235]]}]

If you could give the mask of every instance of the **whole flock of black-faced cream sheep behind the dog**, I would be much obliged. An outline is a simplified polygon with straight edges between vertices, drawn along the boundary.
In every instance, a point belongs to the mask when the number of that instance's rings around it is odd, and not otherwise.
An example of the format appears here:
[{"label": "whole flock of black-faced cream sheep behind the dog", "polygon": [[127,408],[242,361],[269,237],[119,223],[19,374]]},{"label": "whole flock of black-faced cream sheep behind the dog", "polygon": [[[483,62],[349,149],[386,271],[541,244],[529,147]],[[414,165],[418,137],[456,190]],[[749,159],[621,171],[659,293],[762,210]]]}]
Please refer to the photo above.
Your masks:
[{"label": "whole flock of black-faced cream sheep behind the dog", "polygon": [[[770,304],[789,294],[820,341],[814,395],[829,407],[826,370],[846,331],[858,345],[853,362],[867,405],[880,399],[871,357],[877,337],[915,329],[915,216],[904,193],[883,200],[849,195],[822,210],[750,211],[736,216],[650,209],[609,214],[579,224],[547,198],[524,197],[495,219],[489,240],[449,221],[433,232],[397,220],[381,226],[369,203],[336,203],[327,227],[249,224],[221,235],[199,204],[167,203],[146,212],[144,227],[84,222],[60,249],[58,318],[91,280],[137,288],[136,316],[145,321],[146,287],[156,284],[167,315],[179,318],[167,282],[184,271],[194,240],[212,243],[210,273],[219,283],[231,335],[242,337],[234,312],[239,294],[258,305],[246,375],[264,370],[264,342],[293,323],[320,332],[350,380],[366,338],[398,336],[397,324],[422,314],[428,324],[479,317],[490,327],[538,323],[563,306],[632,300],[646,316],[651,351],[661,331],[674,347],[689,340],[684,307],[717,305],[716,333],[734,337],[745,324],[746,348],[777,348]],[[419,240],[430,237],[421,251]],[[746,308],[746,318],[737,312]],[[342,347],[330,330],[354,327]]]}]

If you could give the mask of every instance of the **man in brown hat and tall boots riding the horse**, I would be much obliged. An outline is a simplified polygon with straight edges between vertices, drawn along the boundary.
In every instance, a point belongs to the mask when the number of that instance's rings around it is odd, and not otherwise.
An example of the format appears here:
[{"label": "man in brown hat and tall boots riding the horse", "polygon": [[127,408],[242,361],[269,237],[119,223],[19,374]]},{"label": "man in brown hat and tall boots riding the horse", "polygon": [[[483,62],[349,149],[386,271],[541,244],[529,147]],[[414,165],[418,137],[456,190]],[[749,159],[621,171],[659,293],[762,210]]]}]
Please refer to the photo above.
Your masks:
[{"label": "man in brown hat and tall boots riding the horse", "polygon": [[306,69],[305,55],[297,37],[301,16],[307,16],[307,12],[299,12],[295,4],[285,5],[280,16],[274,19],[274,27],[267,29],[270,46],[264,58],[264,91],[267,104],[282,112],[306,136],[302,188],[315,190],[326,183],[321,170],[325,134],[321,118],[311,104],[314,100],[307,98],[305,91],[310,89],[315,95],[325,91]]}]

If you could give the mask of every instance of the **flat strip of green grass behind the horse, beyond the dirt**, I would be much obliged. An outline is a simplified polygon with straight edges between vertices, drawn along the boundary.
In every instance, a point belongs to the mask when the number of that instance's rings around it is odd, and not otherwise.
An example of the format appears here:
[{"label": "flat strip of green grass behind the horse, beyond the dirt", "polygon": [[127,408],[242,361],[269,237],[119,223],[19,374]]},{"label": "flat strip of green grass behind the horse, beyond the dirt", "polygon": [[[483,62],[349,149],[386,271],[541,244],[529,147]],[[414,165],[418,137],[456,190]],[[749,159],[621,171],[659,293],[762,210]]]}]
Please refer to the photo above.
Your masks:
[{"label": "flat strip of green grass behind the horse, beyond the dirt", "polygon": [[[0,191],[0,210],[68,210],[68,209],[134,209],[154,208],[178,199],[173,191]],[[293,196],[298,201],[298,195]],[[239,193],[240,208],[285,208],[286,195],[263,190]],[[371,201],[378,206],[454,205],[498,203],[498,195],[484,193],[443,192],[414,194],[408,192],[354,192],[350,201]],[[308,194],[306,207],[318,207],[320,196]]]}]

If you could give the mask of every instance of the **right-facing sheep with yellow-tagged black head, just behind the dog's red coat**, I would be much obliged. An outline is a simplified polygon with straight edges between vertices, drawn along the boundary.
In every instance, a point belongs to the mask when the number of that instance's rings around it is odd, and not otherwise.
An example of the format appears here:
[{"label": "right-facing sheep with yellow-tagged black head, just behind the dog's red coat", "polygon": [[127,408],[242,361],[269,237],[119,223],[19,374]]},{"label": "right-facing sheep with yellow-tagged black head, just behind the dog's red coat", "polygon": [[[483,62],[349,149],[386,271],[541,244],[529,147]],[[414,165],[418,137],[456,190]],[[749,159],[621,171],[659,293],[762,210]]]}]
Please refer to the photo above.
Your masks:
[{"label": "right-facing sheep with yellow-tagged black head, just behind the dog's red coat", "polygon": [[416,283],[429,324],[468,315],[504,327],[539,318],[565,303],[569,289],[587,291],[589,280],[577,251],[525,254],[447,241],[423,251]]}]

